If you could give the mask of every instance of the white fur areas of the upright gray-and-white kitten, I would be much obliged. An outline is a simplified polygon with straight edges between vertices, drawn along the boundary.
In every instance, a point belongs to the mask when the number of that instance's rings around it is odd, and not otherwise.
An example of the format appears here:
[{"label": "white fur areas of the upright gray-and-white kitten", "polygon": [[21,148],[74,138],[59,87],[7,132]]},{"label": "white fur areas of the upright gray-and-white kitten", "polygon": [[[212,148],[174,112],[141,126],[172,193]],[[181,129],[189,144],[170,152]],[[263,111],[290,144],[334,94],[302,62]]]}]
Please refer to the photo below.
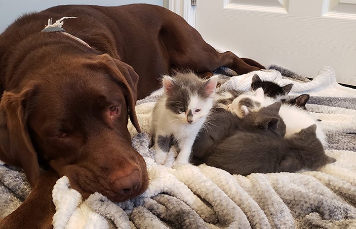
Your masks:
[{"label": "white fur areas of the upright gray-and-white kitten", "polygon": [[[152,114],[152,121],[150,122],[150,131],[152,134],[155,134],[156,162],[158,164],[164,164],[167,159],[167,152],[164,152],[158,146],[159,135],[173,135],[174,139],[177,140],[180,152],[173,163],[174,166],[189,163],[189,157],[195,138],[212,108],[217,79],[218,76],[212,76],[209,80],[209,84],[213,87],[209,98],[202,100],[198,98],[198,95],[190,95],[190,102],[186,112],[176,114],[167,109],[165,107],[167,99],[165,94],[157,101]],[[191,123],[187,120],[189,110],[193,112],[193,120]]]}]

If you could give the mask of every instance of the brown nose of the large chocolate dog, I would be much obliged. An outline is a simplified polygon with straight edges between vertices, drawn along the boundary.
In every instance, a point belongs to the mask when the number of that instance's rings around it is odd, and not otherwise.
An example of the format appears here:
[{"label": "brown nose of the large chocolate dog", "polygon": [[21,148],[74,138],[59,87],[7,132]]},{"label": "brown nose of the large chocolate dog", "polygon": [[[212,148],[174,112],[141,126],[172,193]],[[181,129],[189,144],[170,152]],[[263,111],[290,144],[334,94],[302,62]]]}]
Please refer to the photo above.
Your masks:
[{"label": "brown nose of the large chocolate dog", "polygon": [[111,175],[111,188],[118,194],[129,196],[140,187],[141,174],[138,169],[132,170],[128,175],[123,175],[120,172],[115,172]]}]

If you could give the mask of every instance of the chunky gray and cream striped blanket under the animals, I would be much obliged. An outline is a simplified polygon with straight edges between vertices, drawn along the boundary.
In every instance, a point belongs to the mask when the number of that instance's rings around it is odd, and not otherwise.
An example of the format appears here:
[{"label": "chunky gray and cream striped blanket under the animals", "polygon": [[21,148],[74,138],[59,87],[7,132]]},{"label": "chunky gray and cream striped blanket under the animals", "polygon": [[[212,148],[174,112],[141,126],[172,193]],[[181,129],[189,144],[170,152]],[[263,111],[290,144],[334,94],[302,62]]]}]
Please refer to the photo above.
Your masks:
[{"label": "chunky gray and cream striped blanket under the animals", "polygon": [[[337,161],[318,171],[231,175],[205,164],[178,168],[154,162],[148,122],[161,91],[137,102],[143,130],[128,128],[133,147],[145,158],[149,188],[134,199],[114,203],[95,193],[87,199],[67,177],[53,189],[54,229],[355,229],[356,90],[339,85],[331,67],[314,80],[276,65],[268,71],[221,76],[221,89],[249,90],[253,74],[280,85],[293,83],[291,96],[310,94],[307,108],[322,120],[326,154]],[[220,73],[236,75],[230,69]],[[297,118],[296,118],[297,119]],[[169,156],[173,162],[173,155]],[[169,163],[168,163],[169,164]],[[0,165],[0,218],[31,191],[21,170]]]}]

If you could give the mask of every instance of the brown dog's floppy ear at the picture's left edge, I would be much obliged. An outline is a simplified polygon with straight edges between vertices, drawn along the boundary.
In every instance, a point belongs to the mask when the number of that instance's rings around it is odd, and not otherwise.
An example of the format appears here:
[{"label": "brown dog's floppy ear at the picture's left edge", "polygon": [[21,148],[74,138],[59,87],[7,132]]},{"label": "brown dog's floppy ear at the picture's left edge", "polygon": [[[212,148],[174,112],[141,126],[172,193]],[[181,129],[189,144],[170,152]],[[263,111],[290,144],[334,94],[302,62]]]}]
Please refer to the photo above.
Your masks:
[{"label": "brown dog's floppy ear at the picture's left edge", "polygon": [[27,130],[26,104],[35,85],[20,93],[4,92],[0,102],[0,160],[22,167],[32,185],[40,176],[37,153]]}]

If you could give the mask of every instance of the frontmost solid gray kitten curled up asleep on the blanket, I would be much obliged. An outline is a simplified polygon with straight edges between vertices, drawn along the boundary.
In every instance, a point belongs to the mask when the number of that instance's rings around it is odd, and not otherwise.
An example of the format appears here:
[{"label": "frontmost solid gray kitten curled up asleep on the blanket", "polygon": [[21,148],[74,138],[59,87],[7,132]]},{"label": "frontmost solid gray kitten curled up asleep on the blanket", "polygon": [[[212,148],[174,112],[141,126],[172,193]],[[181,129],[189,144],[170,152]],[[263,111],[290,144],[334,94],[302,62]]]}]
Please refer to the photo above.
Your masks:
[{"label": "frontmost solid gray kitten curled up asleep on the blanket", "polygon": [[204,161],[232,174],[316,170],[336,160],[325,155],[312,125],[289,138],[238,131],[221,142]]}]

